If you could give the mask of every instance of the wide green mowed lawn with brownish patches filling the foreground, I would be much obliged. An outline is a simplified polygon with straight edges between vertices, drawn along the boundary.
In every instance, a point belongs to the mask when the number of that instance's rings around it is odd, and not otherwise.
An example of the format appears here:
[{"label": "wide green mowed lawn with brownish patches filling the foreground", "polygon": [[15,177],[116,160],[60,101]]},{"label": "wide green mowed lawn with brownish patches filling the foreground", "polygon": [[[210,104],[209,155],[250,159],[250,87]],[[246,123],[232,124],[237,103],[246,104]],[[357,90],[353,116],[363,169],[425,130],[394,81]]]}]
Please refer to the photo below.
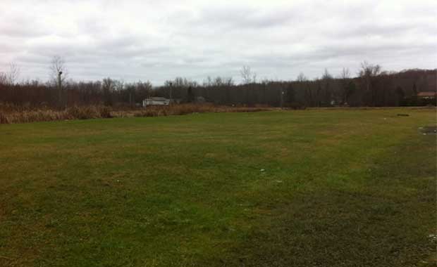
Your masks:
[{"label": "wide green mowed lawn with brownish patches filling the foreground", "polygon": [[421,126],[435,109],[0,125],[0,266],[435,266]]}]

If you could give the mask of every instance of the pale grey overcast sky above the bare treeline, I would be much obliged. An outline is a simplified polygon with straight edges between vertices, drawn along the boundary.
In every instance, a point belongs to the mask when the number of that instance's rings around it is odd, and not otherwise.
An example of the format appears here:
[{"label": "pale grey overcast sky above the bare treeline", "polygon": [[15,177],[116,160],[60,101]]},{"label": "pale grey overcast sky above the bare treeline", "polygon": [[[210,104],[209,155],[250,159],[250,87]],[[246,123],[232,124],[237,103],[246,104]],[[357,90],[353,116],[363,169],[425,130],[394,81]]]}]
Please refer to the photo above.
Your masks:
[{"label": "pale grey overcast sky above the bare treeline", "polygon": [[437,1],[0,0],[0,71],[49,77],[53,56],[69,78],[155,85],[202,82],[249,65],[259,79],[437,67]]}]

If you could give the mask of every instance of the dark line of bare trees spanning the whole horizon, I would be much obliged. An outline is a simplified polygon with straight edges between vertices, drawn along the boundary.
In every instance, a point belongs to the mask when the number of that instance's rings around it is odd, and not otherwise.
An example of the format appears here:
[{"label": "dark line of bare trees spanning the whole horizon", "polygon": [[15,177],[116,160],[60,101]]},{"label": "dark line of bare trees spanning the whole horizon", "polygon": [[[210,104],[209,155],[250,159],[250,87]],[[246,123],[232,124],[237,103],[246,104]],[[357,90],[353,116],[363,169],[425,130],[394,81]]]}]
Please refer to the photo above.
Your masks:
[{"label": "dark line of bare trees spanning the whole horizon", "polygon": [[[242,76],[244,78],[244,73]],[[140,105],[144,98],[162,96],[178,103],[206,101],[220,105],[269,105],[290,108],[331,106],[435,105],[436,100],[417,98],[421,91],[436,91],[437,70],[381,72],[364,63],[359,77],[343,70],[332,77],[325,70],[319,79],[300,74],[295,81],[256,82],[255,76],[235,84],[231,78],[208,78],[203,84],[185,78],[153,87],[150,82],[125,83],[106,78],[101,82],[21,83],[0,79],[0,102],[13,105],[64,108],[72,105]],[[61,87],[61,88],[60,88]]]}]

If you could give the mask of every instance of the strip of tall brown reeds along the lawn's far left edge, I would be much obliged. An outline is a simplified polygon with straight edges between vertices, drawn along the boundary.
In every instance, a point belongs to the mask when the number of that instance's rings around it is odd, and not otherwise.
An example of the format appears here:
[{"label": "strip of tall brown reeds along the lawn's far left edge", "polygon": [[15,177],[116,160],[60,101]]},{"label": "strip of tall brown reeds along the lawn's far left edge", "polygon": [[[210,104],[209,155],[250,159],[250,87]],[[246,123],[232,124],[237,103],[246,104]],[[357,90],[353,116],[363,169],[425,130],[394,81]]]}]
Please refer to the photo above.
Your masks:
[{"label": "strip of tall brown reeds along the lawn's far left edge", "polygon": [[48,122],[69,119],[100,119],[111,117],[157,117],[204,112],[257,112],[263,110],[271,110],[271,108],[229,107],[211,104],[181,104],[151,106],[133,110],[112,110],[105,106],[94,105],[81,107],[74,106],[66,108],[65,110],[53,110],[49,108],[0,105],[0,124]]}]

